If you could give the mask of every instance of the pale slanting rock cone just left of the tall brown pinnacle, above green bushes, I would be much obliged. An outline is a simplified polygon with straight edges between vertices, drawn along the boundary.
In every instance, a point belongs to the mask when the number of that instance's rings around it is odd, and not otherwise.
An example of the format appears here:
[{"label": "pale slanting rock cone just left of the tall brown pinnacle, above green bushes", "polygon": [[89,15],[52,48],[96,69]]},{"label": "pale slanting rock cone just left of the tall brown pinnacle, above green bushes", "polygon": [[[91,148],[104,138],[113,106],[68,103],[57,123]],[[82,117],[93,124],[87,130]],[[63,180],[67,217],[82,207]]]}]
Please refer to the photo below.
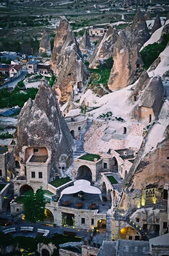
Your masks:
[{"label": "pale slanting rock cone just left of the tall brown pinnacle, above green bushes", "polygon": [[97,68],[97,66],[102,65],[107,58],[113,56],[113,48],[117,38],[117,30],[113,26],[110,26],[102,40],[97,44],[95,51],[92,54],[92,57],[89,61],[90,68]]}]

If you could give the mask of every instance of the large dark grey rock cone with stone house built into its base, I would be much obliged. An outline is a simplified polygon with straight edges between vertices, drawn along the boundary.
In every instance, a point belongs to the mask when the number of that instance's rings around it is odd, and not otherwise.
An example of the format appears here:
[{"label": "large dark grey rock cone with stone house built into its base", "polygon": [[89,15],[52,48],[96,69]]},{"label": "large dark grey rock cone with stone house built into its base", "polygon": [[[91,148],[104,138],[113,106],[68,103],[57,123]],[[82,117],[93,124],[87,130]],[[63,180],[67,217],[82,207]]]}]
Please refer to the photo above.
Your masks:
[{"label": "large dark grey rock cone with stone house built into its base", "polygon": [[[74,142],[69,128],[60,112],[54,91],[45,78],[41,79],[35,100],[29,99],[18,117],[14,134],[14,157],[22,163],[26,159],[26,148],[47,149],[51,158],[50,180],[54,173],[61,173],[59,166],[68,167],[72,163]],[[24,166],[21,165],[21,169]]]}]

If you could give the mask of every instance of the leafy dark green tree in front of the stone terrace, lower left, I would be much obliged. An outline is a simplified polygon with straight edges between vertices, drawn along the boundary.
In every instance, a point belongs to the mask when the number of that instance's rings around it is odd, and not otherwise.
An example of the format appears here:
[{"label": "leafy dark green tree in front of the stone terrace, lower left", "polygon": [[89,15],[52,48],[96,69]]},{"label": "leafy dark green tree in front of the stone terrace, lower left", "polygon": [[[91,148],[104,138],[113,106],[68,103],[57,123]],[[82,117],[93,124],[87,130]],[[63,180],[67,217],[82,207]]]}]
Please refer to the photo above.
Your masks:
[{"label": "leafy dark green tree in front of the stone terrace, lower left", "polygon": [[33,191],[25,193],[23,200],[23,214],[27,221],[31,221],[35,224],[35,231],[37,233],[36,222],[44,221],[45,216],[45,207],[46,199],[44,198],[45,192],[42,190],[42,187],[38,189],[36,194]]}]

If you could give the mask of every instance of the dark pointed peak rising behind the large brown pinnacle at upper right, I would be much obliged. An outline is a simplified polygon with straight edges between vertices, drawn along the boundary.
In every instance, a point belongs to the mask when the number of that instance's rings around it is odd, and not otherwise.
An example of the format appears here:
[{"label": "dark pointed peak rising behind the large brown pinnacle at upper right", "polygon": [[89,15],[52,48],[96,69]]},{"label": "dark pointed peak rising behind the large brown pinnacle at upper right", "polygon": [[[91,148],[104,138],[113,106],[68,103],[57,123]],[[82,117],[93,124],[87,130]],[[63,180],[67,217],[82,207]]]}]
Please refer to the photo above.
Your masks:
[{"label": "dark pointed peak rising behind the large brown pinnacle at upper right", "polygon": [[149,40],[149,30],[147,28],[146,20],[143,16],[143,13],[138,9],[133,22],[132,22],[132,29],[134,31],[134,35],[138,44],[139,49]]}]

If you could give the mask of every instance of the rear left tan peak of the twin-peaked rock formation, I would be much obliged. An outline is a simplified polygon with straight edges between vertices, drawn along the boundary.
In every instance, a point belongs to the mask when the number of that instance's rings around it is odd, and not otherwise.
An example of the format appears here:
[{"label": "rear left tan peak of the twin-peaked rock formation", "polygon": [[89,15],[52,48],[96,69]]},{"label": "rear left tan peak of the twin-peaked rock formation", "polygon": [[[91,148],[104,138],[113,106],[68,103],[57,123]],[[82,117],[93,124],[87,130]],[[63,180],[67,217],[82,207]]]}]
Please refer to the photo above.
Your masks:
[{"label": "rear left tan peak of the twin-peaked rock formation", "polygon": [[71,31],[71,26],[66,19],[66,17],[62,17],[59,23],[59,27],[56,27],[56,35],[54,38],[54,48],[52,50],[52,56],[50,60],[51,68],[54,73],[57,73],[57,59],[62,49],[63,43],[66,40],[67,35]]}]

